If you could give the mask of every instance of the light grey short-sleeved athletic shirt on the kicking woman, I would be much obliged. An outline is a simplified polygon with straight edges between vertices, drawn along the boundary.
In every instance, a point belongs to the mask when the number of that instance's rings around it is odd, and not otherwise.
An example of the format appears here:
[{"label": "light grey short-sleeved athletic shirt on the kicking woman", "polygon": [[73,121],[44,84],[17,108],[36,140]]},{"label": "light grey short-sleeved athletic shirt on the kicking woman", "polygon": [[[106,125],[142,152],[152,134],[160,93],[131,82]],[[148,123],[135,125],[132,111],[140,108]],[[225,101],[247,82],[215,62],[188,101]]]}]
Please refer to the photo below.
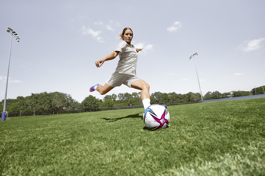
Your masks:
[{"label": "light grey short-sleeved athletic shirt on the kicking woman", "polygon": [[115,72],[136,76],[137,52],[133,45],[122,41],[117,45],[115,51],[119,51],[120,60]]}]

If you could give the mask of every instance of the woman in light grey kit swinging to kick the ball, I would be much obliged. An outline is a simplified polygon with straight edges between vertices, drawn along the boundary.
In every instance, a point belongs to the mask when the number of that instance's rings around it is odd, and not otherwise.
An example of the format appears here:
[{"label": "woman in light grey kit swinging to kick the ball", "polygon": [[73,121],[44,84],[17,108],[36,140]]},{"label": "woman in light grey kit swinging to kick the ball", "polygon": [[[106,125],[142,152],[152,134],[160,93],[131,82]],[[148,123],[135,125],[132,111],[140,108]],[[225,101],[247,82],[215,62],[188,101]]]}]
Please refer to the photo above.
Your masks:
[{"label": "woman in light grey kit swinging to kick the ball", "polygon": [[141,100],[144,109],[146,109],[150,106],[150,86],[143,79],[136,76],[137,53],[143,50],[143,48],[135,48],[134,45],[131,44],[132,37],[132,30],[130,28],[124,28],[122,33],[120,33],[120,39],[123,41],[117,45],[115,51],[95,61],[96,66],[99,68],[105,61],[112,60],[117,57],[117,55],[120,57],[115,72],[107,79],[104,86],[96,84],[90,87],[89,91],[93,92],[97,90],[101,95],[104,95],[114,87],[124,84],[130,88],[141,90]]}]

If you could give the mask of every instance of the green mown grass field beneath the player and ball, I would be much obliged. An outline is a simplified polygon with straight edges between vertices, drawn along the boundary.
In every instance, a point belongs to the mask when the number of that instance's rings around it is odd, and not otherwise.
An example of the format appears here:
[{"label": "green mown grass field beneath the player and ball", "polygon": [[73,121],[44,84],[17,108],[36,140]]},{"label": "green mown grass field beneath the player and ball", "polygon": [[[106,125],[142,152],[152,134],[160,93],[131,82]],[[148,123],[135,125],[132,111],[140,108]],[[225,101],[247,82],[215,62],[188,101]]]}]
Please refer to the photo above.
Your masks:
[{"label": "green mown grass field beneath the player and ball", "polygon": [[0,123],[1,175],[265,175],[265,98],[11,117]]}]

